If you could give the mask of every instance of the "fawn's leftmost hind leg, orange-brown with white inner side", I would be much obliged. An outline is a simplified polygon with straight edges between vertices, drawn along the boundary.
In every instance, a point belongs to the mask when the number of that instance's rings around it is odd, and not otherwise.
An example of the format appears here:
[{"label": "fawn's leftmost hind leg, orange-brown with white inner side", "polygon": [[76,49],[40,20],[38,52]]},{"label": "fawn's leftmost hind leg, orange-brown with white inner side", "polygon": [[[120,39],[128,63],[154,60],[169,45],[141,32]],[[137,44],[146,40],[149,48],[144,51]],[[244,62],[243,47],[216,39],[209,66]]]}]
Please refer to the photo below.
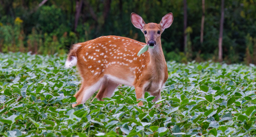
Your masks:
[{"label": "fawn's leftmost hind leg, orange-brown with white inner side", "polygon": [[77,103],[72,104],[72,107],[86,102],[100,88],[105,80],[103,77],[90,77],[90,79],[86,77],[83,78],[84,79],[82,79],[82,85],[80,89],[74,95]]}]

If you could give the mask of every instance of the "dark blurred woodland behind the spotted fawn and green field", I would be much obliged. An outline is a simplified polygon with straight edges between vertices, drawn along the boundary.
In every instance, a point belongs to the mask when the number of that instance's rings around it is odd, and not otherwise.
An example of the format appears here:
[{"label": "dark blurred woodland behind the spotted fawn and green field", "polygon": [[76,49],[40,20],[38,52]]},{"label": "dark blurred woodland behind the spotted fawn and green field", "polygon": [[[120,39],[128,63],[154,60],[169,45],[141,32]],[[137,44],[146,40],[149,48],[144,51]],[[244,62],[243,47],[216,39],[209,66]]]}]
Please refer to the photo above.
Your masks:
[{"label": "dark blurred woodland behind the spotted fawn and green field", "polygon": [[166,61],[256,63],[255,0],[0,0],[0,51],[66,54],[102,35],[145,42],[131,12],[146,23],[173,12],[161,36]]}]

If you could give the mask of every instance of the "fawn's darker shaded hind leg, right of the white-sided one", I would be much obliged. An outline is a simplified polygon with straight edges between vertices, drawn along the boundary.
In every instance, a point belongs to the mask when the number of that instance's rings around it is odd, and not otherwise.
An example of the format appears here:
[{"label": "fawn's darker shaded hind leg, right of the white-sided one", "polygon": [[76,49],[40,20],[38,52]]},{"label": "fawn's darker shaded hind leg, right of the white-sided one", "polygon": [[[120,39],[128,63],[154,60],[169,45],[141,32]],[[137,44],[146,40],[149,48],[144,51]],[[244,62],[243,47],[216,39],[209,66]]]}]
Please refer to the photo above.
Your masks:
[{"label": "fawn's darker shaded hind leg, right of the white-sided one", "polygon": [[102,84],[98,94],[96,95],[96,98],[98,100],[102,100],[102,98],[104,97],[111,97],[111,95],[113,94],[118,85],[118,83],[115,83],[111,80],[105,81]]}]

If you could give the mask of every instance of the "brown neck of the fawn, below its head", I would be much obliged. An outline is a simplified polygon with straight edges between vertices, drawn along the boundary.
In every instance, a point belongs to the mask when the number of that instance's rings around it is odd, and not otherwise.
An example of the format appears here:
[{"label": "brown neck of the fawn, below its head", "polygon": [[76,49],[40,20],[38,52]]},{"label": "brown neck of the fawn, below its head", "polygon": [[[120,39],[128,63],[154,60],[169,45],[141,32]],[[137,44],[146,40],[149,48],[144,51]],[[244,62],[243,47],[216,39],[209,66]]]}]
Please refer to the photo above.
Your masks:
[{"label": "brown neck of the fawn, below its head", "polygon": [[[158,42],[160,43],[160,42]],[[154,73],[154,77],[161,78],[164,76],[166,62],[164,59],[163,51],[161,44],[155,45],[155,47],[149,48],[149,69],[152,73]]]}]

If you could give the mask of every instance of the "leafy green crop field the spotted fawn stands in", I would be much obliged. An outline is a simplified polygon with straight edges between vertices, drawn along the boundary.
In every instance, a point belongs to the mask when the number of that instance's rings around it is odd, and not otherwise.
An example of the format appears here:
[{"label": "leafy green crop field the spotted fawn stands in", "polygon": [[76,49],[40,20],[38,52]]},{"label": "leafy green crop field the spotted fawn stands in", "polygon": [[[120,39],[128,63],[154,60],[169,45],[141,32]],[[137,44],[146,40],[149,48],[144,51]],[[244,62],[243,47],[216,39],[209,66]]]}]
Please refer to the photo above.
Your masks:
[{"label": "leafy green crop field the spotted fawn stands in", "polygon": [[121,86],[105,101],[93,100],[95,93],[72,108],[80,82],[64,62],[56,55],[0,54],[2,136],[256,135],[253,64],[167,62],[157,102],[146,93],[137,106],[134,87]]}]

